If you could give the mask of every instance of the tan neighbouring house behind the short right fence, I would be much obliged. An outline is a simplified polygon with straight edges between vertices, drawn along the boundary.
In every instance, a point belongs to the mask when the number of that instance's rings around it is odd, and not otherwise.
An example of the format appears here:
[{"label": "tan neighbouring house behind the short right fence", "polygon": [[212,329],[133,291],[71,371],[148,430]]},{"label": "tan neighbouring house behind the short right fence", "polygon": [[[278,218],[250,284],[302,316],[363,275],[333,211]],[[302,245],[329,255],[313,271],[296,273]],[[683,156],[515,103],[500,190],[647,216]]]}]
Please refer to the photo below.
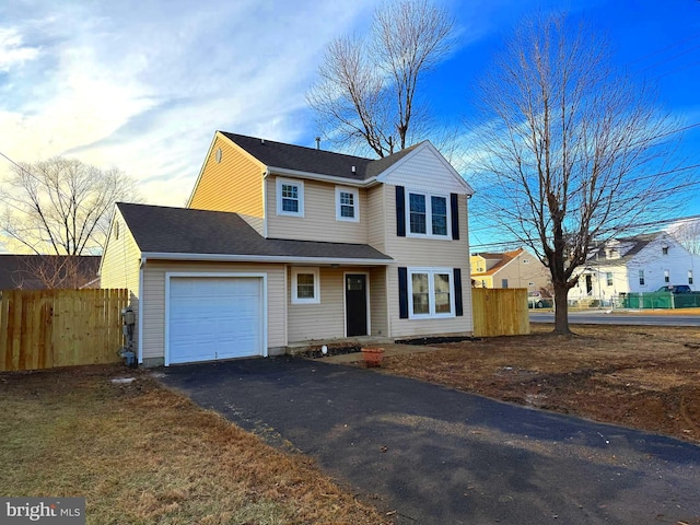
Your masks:
[{"label": "tan neighbouring house behind the short right fence", "polygon": [[476,288],[550,288],[549,270],[524,248],[504,253],[474,254],[469,257]]}]

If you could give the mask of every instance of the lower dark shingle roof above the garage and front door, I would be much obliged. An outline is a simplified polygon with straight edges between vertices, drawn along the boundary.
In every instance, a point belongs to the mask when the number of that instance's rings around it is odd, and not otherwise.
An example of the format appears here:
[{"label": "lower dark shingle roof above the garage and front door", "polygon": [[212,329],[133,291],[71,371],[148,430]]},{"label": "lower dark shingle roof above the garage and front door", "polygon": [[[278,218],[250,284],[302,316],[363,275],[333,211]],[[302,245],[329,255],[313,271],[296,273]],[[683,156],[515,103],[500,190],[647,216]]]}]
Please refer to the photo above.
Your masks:
[{"label": "lower dark shingle roof above the garage and front door", "polygon": [[118,202],[142,254],[178,258],[389,264],[393,259],[366,244],[265,238],[237,213]]}]

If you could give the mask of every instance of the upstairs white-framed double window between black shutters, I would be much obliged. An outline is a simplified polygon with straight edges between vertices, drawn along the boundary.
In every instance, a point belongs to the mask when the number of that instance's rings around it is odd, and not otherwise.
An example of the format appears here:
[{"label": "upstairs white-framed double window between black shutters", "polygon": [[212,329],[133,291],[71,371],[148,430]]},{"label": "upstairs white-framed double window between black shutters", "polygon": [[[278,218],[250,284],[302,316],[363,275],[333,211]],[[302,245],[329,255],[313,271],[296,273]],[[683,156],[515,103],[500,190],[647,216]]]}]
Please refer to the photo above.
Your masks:
[{"label": "upstairs white-framed double window between black shutters", "polygon": [[408,235],[425,237],[448,237],[451,226],[450,198],[407,191],[406,222]]}]

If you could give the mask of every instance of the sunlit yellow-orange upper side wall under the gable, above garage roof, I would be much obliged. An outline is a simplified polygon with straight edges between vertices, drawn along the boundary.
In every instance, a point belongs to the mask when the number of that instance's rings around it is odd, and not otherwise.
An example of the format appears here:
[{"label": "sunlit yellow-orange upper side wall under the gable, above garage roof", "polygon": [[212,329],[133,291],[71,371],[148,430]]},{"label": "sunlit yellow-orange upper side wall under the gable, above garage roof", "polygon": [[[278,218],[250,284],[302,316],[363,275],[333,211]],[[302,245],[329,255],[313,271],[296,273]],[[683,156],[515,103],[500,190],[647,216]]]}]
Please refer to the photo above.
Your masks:
[{"label": "sunlit yellow-orange upper side wall under the gable, above garage roof", "polygon": [[[221,162],[217,150],[221,148]],[[262,172],[265,166],[217,133],[189,208],[240,213],[258,233],[264,230]]]}]

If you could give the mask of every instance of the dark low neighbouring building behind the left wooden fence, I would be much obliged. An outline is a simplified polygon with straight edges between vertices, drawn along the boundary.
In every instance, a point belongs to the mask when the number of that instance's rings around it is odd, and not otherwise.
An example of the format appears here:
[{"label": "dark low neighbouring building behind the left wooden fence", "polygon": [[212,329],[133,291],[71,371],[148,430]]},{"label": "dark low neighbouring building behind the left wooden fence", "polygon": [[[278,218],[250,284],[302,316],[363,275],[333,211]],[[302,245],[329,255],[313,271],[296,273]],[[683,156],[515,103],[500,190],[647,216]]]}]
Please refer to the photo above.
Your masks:
[{"label": "dark low neighbouring building behind the left wooden fence", "polygon": [[100,256],[0,255],[0,290],[100,288]]}]

